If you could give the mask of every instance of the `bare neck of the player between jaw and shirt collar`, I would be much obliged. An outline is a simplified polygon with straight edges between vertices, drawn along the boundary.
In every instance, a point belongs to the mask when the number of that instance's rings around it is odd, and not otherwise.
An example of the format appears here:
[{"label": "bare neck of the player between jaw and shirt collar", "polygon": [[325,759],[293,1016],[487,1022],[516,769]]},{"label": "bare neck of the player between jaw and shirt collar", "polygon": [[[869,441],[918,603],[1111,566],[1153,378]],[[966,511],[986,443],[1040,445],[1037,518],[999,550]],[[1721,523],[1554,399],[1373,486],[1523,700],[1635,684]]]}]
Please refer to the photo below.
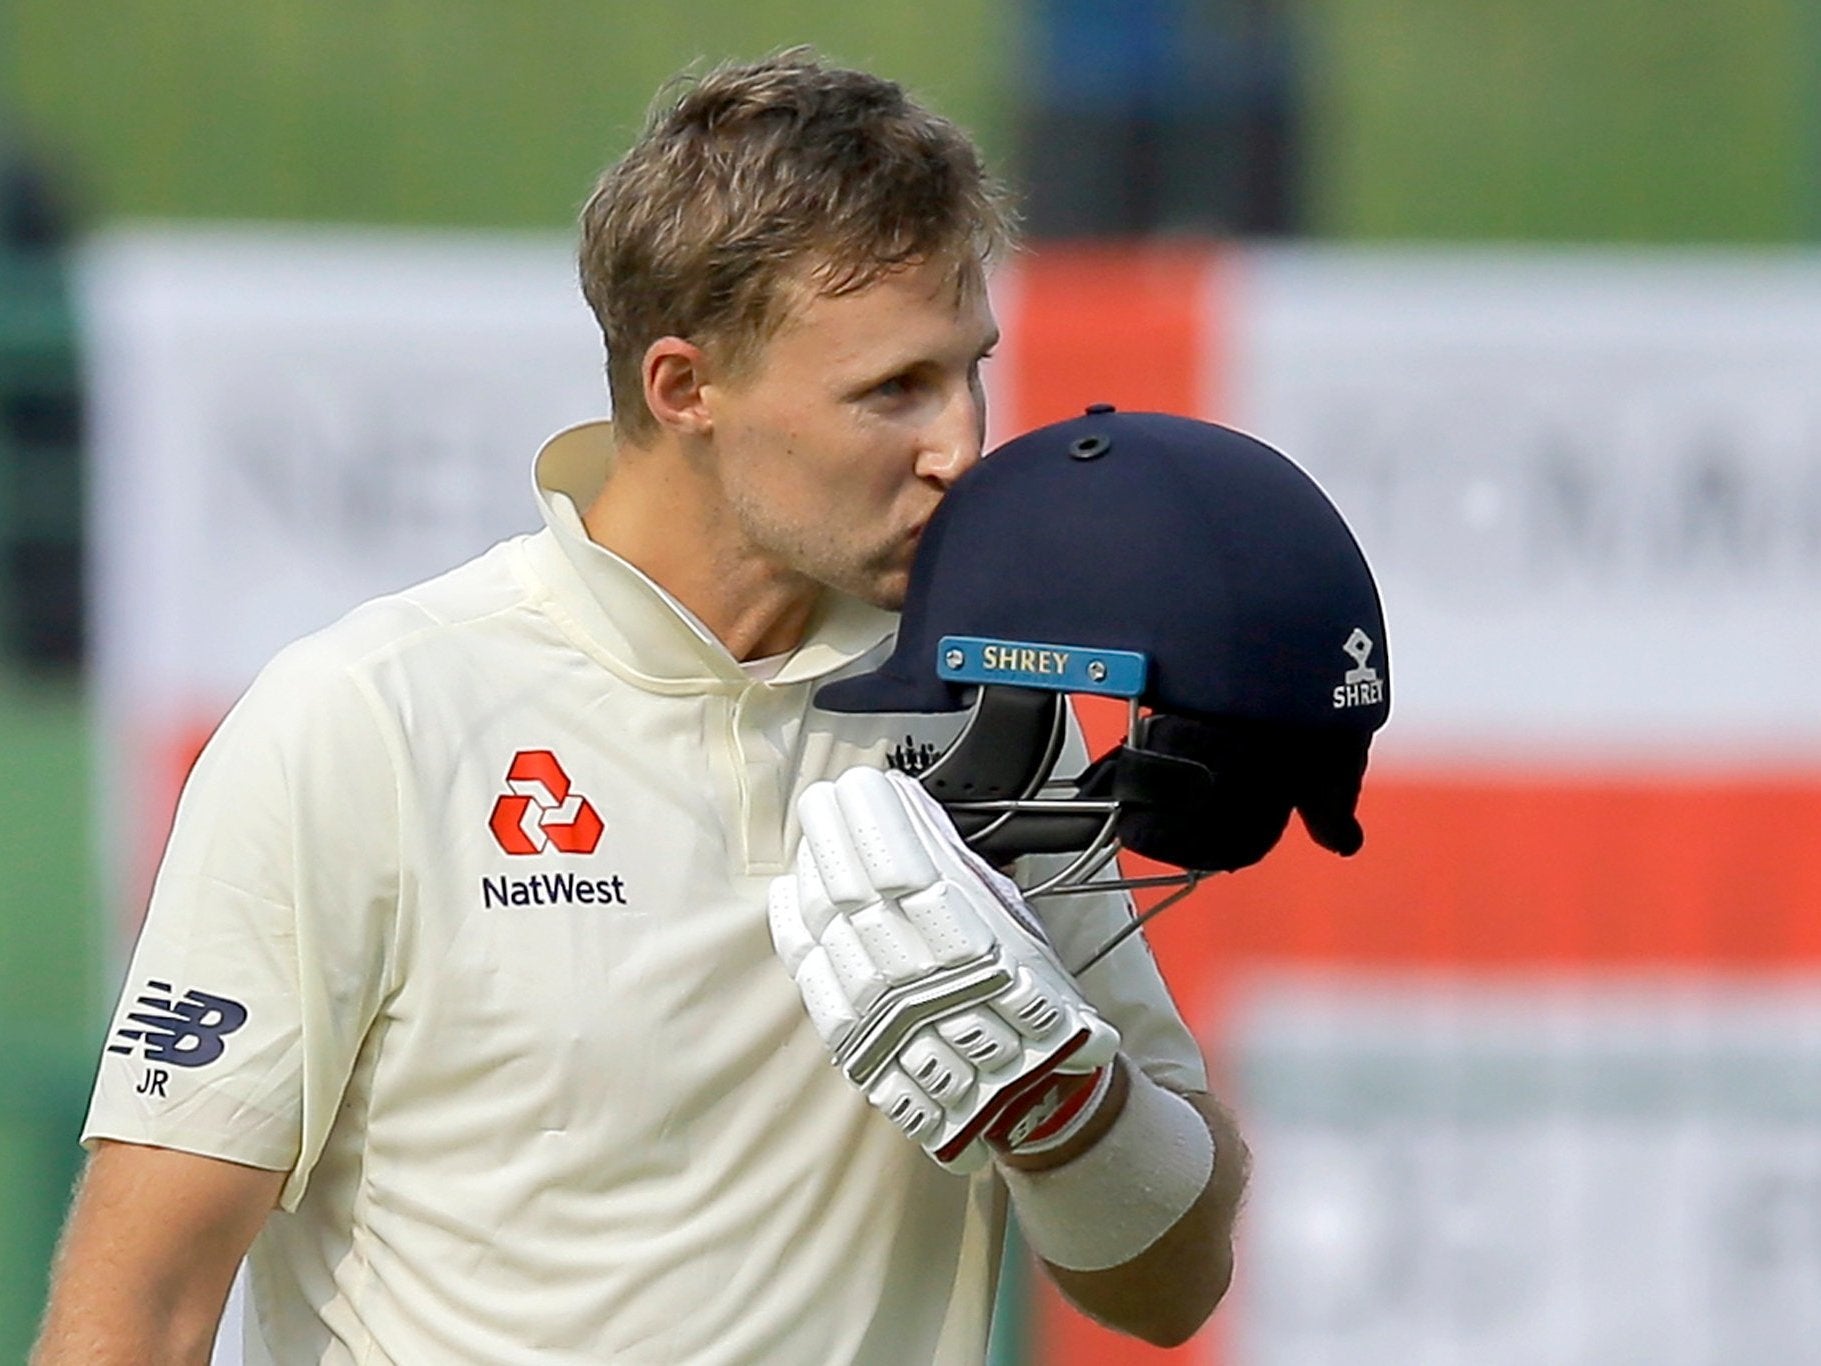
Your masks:
[{"label": "bare neck of the player between jaw and shirt collar", "polygon": [[683,603],[736,659],[801,645],[819,585],[745,545],[685,452],[623,444],[581,521],[588,539]]}]

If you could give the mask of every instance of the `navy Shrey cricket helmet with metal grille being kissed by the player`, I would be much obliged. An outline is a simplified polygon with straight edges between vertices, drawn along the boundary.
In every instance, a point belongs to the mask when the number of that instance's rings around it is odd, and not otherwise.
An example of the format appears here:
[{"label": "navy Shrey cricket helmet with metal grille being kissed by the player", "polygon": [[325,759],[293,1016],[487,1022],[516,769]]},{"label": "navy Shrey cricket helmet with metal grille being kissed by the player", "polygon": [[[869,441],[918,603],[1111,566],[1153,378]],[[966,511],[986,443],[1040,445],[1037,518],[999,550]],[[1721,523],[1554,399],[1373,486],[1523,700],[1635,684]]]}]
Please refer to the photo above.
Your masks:
[{"label": "navy Shrey cricket helmet with metal grille being kissed by the player", "polygon": [[[1129,725],[1058,780],[1069,692],[1124,698]],[[969,708],[921,781],[987,858],[1080,851],[1080,885],[1118,845],[1191,872],[1246,867],[1291,810],[1355,852],[1391,688],[1371,570],[1307,474],[1213,423],[1094,404],[954,483],[896,648],[816,703]]]}]

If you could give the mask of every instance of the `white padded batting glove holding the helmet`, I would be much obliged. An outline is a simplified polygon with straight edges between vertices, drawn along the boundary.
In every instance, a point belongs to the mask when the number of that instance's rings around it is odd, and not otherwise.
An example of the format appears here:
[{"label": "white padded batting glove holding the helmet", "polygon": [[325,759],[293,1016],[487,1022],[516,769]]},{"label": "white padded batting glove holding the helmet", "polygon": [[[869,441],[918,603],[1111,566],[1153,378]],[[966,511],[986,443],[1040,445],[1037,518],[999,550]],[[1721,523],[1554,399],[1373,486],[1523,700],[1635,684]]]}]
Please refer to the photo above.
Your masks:
[{"label": "white padded batting glove holding the helmet", "polygon": [[1118,1031],[1018,887],[916,780],[850,769],[809,787],[798,818],[772,945],[836,1065],[941,1166],[978,1169],[989,1135],[1016,1144],[1043,1120],[1058,1073],[1113,1060]]}]

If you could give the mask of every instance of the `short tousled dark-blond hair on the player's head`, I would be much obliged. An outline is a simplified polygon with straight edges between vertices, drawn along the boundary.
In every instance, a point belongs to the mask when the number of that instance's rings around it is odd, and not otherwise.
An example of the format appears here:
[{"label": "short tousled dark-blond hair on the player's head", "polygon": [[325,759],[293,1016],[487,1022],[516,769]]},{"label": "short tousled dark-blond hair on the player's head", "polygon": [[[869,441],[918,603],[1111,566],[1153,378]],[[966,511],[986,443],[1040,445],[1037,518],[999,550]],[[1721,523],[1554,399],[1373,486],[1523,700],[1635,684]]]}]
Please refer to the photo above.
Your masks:
[{"label": "short tousled dark-blond hair on the player's head", "polygon": [[581,213],[615,424],[656,432],[641,366],[659,337],[738,372],[783,322],[788,284],[847,293],[927,259],[983,266],[1011,240],[972,140],[890,80],[805,47],[672,80]]}]

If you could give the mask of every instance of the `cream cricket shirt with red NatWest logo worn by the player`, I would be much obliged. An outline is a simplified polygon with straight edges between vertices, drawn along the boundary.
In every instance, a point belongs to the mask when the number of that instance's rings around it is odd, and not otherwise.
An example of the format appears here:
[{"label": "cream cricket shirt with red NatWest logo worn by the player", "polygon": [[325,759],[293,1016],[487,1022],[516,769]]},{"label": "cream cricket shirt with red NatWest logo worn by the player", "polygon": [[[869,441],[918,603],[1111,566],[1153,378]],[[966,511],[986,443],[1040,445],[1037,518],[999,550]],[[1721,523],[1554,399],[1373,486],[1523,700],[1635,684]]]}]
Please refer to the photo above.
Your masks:
[{"label": "cream cricket shirt with red NatWest logo worn by the player", "polygon": [[[585,537],[610,452],[555,437],[546,530],[299,641],[233,708],[86,1138],[290,1173],[253,1362],[978,1362],[1003,1188],[849,1087],[765,927],[794,794],[954,723],[810,707],[892,627],[852,599],[748,678]],[[1125,914],[1069,898],[1063,958]],[[1140,940],[1085,987],[1202,1086]]]}]

